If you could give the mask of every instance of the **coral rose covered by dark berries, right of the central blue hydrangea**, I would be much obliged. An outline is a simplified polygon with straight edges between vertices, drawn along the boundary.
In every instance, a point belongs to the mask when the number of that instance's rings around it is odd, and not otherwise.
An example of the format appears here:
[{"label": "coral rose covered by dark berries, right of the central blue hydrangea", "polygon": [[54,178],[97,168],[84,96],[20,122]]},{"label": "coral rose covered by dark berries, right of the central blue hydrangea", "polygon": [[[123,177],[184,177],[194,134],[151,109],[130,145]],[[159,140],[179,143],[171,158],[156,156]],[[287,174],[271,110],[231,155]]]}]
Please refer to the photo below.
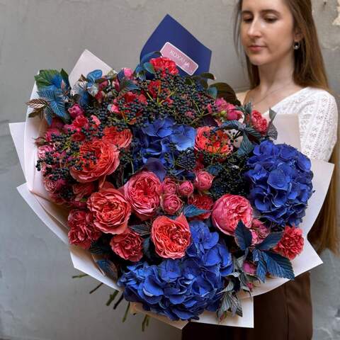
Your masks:
[{"label": "coral rose covered by dark berries, right of the central blue hydrangea", "polygon": [[197,129],[195,149],[227,157],[233,149],[229,136],[221,130],[213,133],[213,129],[210,126],[203,126]]}]

